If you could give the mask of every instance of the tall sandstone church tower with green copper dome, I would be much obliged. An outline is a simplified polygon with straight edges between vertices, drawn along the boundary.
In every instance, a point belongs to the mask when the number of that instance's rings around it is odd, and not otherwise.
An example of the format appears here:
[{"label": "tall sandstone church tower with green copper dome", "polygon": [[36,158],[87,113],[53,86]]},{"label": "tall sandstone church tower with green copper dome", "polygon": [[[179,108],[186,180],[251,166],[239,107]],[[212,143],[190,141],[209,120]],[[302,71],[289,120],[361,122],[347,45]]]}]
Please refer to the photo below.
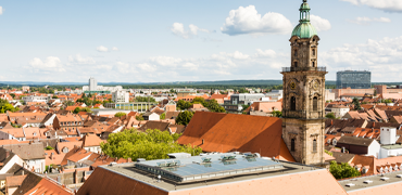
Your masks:
[{"label": "tall sandstone church tower with green copper dome", "polygon": [[318,67],[317,31],[310,23],[310,5],[303,0],[299,25],[291,38],[291,65],[284,67],[282,138],[301,164],[324,164],[325,75]]}]

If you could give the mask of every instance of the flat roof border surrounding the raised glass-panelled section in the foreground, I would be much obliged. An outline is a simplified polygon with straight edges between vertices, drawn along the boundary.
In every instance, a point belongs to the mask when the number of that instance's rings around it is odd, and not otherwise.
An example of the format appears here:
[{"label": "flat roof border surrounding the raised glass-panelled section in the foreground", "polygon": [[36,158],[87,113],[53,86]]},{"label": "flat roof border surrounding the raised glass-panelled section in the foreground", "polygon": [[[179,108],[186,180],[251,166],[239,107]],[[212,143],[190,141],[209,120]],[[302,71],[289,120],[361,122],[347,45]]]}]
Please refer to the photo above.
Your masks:
[{"label": "flat roof border surrounding the raised glass-panelled section in the foreground", "polygon": [[[223,156],[226,154],[219,154],[219,155]],[[201,157],[209,157],[209,156],[199,156],[199,158]],[[190,158],[187,158],[187,159],[190,159]],[[261,159],[262,161],[264,160],[272,161],[273,165],[274,164],[280,165],[280,167],[275,168],[275,169],[268,169],[265,171],[248,172],[243,174],[229,174],[228,177],[223,177],[223,178],[203,178],[202,180],[194,180],[193,182],[181,182],[181,183],[175,182],[164,177],[162,177],[161,182],[159,182],[158,181],[159,174],[151,173],[151,172],[145,171],[136,167],[136,165],[143,165],[145,164],[143,161],[117,164],[113,166],[99,166],[98,168],[106,169],[117,174],[125,176],[131,180],[136,180],[136,181],[146,183],[148,185],[151,185],[151,186],[154,186],[156,188],[161,188],[167,192],[205,187],[208,185],[236,183],[236,182],[273,178],[273,177],[282,177],[282,176],[289,176],[289,174],[296,174],[296,173],[302,173],[302,172],[309,172],[309,171],[315,171],[315,170],[323,170],[323,168],[317,168],[317,167],[312,167],[312,166],[306,166],[306,165],[301,165],[301,164],[296,164],[296,162],[281,161],[281,160],[271,160],[271,158],[265,158],[265,157],[259,158],[259,159]],[[231,166],[231,165],[228,165],[228,166]]]}]

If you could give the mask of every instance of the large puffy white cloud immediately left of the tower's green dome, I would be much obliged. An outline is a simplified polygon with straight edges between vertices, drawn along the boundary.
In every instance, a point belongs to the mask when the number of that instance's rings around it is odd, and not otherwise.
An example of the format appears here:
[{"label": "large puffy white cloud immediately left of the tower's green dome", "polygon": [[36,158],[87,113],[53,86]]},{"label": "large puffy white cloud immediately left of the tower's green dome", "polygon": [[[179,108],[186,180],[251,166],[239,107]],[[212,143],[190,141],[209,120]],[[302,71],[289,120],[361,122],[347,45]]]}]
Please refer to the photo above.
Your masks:
[{"label": "large puffy white cloud immediately left of the tower's green dome", "polygon": [[254,5],[240,6],[231,10],[225,24],[221,27],[222,32],[236,36],[242,34],[290,34],[293,26],[288,18],[280,13],[269,12],[264,16],[257,13]]}]

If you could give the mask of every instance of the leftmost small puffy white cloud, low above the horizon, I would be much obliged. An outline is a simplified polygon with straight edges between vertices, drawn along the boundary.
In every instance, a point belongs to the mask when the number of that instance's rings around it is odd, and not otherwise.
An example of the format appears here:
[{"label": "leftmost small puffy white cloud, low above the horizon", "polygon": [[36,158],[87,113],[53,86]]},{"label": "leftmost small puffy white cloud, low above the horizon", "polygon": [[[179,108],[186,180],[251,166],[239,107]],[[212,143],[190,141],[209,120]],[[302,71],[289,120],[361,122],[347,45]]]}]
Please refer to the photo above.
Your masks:
[{"label": "leftmost small puffy white cloud, low above the horizon", "polygon": [[45,61],[35,57],[29,62],[32,68],[47,72],[65,72],[59,57],[48,56]]}]

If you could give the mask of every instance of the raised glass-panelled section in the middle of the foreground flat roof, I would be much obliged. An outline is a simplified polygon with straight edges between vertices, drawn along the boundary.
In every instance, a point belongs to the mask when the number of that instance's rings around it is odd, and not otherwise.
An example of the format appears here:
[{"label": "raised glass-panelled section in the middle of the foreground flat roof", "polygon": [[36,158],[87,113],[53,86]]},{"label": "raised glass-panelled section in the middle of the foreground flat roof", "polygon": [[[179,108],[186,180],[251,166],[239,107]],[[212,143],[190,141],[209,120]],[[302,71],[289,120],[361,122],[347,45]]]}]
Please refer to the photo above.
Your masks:
[{"label": "raised glass-panelled section in the middle of the foreground flat roof", "polygon": [[263,172],[282,168],[282,165],[271,159],[260,158],[253,154],[213,154],[179,159],[159,159],[141,161],[136,167],[147,172],[156,172],[175,182],[203,181],[205,178],[226,178],[231,176]]}]

